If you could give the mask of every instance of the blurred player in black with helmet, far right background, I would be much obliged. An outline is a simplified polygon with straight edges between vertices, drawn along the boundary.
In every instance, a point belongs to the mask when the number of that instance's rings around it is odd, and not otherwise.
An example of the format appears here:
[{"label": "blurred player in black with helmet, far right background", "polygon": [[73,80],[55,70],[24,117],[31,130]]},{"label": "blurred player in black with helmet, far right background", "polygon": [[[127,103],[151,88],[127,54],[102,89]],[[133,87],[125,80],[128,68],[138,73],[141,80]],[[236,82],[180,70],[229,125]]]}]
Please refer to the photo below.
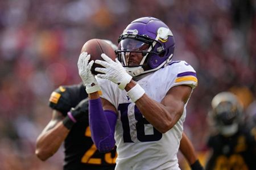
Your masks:
[{"label": "blurred player in black with helmet, far right background", "polygon": [[256,169],[256,133],[243,125],[237,97],[231,92],[214,96],[209,116],[216,131],[209,137],[206,169]]}]

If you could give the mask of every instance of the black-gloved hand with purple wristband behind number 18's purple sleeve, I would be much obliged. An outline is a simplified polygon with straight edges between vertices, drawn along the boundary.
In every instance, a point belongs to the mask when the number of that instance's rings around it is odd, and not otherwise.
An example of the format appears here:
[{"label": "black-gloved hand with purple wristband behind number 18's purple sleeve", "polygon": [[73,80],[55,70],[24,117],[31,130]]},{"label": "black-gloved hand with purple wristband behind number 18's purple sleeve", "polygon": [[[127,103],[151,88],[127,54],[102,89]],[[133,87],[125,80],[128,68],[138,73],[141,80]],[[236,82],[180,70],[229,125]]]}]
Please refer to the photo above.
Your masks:
[{"label": "black-gloved hand with purple wristband behind number 18's purple sleeve", "polygon": [[71,129],[76,122],[88,120],[88,112],[88,98],[86,98],[80,101],[75,108],[71,108],[63,120],[63,125],[66,128]]}]

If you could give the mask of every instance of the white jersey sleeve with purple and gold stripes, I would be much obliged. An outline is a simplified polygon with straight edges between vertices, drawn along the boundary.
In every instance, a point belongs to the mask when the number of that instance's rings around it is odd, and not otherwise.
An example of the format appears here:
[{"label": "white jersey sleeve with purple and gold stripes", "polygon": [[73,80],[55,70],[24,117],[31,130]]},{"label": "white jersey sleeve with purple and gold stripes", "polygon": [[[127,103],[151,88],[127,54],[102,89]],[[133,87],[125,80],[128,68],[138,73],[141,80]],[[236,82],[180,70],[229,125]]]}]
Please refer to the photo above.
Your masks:
[{"label": "white jersey sleeve with purple and gold stripes", "polygon": [[193,89],[197,84],[196,71],[187,62],[181,61],[177,66],[177,75],[174,86],[188,85]]}]

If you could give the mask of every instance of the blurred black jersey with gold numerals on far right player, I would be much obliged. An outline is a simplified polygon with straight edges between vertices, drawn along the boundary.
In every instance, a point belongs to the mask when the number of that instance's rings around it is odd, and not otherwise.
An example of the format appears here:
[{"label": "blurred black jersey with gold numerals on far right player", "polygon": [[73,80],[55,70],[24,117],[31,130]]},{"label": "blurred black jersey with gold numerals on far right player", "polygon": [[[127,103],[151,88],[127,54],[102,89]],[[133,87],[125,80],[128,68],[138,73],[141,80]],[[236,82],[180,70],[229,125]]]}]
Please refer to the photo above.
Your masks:
[{"label": "blurred black jersey with gold numerals on far right player", "polygon": [[224,137],[217,134],[209,138],[208,146],[213,153],[210,156],[206,170],[256,169],[256,135],[254,130],[241,126],[236,134]]}]

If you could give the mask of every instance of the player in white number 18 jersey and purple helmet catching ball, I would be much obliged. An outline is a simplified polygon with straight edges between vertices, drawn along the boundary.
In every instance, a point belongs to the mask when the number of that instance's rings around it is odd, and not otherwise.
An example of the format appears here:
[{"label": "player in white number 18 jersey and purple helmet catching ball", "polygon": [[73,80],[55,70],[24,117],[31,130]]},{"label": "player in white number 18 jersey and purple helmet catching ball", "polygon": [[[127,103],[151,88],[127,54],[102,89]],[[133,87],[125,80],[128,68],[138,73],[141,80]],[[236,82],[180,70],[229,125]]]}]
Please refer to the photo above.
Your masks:
[{"label": "player in white number 18 jersey and purple helmet catching ball", "polygon": [[171,60],[174,37],[159,19],[134,20],[118,41],[120,62],[105,54],[105,61],[96,60],[104,66],[96,68],[101,79],[90,72],[90,56],[79,57],[93,141],[101,152],[117,145],[116,169],[180,169],[177,151],[196,71]]}]

